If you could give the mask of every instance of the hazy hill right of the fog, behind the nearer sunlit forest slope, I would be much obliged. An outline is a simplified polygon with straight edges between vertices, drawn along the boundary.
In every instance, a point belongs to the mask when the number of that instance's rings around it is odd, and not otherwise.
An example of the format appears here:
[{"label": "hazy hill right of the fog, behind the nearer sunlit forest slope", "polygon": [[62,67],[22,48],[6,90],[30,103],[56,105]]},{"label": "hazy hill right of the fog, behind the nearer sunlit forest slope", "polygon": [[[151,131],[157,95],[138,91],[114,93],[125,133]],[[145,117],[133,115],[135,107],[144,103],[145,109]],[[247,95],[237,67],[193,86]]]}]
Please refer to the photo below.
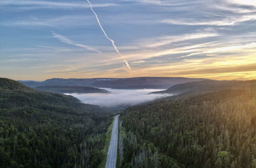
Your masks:
[{"label": "hazy hill right of the fog, behind the nearer sunlit forest slope", "polygon": [[197,82],[182,83],[170,87],[167,90],[152,92],[150,94],[181,94],[181,93],[201,93],[205,91],[217,91],[222,89],[243,89],[250,88],[255,80],[204,80]]}]

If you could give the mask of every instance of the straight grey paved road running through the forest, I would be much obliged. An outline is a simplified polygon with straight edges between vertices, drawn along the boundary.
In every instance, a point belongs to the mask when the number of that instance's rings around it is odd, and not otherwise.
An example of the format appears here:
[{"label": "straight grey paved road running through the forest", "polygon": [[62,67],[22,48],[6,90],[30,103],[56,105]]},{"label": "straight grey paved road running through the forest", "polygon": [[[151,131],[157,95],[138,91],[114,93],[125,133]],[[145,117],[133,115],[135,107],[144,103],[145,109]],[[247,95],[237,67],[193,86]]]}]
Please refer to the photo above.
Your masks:
[{"label": "straight grey paved road running through the forest", "polygon": [[112,133],[111,133],[108,157],[106,157],[105,168],[116,168],[119,116],[120,115],[115,116]]}]

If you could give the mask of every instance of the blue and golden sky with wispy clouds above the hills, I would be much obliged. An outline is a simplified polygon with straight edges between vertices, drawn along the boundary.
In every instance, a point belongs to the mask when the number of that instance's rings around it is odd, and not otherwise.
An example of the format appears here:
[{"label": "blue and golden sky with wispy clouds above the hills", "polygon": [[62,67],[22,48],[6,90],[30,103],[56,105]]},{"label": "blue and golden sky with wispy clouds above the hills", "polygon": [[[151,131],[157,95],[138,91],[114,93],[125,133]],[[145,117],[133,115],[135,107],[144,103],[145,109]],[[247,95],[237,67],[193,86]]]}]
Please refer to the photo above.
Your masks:
[{"label": "blue and golden sky with wispy clouds above the hills", "polygon": [[256,1],[91,4],[122,57],[86,0],[1,0],[0,77],[256,78]]}]

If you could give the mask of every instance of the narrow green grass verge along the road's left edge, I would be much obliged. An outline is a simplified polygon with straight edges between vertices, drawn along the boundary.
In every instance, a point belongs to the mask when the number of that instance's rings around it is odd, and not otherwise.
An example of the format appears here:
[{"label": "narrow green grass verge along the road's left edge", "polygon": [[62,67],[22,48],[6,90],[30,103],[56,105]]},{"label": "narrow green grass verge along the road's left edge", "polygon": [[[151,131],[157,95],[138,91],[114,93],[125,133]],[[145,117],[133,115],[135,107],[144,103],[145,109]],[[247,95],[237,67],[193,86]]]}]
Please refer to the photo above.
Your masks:
[{"label": "narrow green grass verge along the road's left edge", "polygon": [[106,131],[105,146],[101,150],[103,160],[99,163],[98,168],[104,168],[105,164],[106,164],[106,157],[108,156],[108,150],[109,150],[109,145],[110,145],[110,139],[111,139],[111,133],[112,133],[114,119],[115,119],[115,117],[113,117],[113,121],[112,121],[111,125],[109,126],[108,131]]}]

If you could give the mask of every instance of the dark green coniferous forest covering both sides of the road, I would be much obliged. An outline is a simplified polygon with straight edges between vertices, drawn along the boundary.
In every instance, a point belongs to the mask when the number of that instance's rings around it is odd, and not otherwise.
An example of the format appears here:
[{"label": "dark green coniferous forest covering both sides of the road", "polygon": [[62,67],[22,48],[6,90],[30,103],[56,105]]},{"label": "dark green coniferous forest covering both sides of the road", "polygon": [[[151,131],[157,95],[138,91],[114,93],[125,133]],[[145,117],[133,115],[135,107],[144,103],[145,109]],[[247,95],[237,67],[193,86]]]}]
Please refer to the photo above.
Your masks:
[{"label": "dark green coniferous forest covering both sides of the road", "polygon": [[[188,87],[124,109],[117,166],[254,168],[256,81],[234,83],[202,91]],[[105,159],[113,118],[99,106],[0,78],[0,107],[1,167],[98,167]]]}]

